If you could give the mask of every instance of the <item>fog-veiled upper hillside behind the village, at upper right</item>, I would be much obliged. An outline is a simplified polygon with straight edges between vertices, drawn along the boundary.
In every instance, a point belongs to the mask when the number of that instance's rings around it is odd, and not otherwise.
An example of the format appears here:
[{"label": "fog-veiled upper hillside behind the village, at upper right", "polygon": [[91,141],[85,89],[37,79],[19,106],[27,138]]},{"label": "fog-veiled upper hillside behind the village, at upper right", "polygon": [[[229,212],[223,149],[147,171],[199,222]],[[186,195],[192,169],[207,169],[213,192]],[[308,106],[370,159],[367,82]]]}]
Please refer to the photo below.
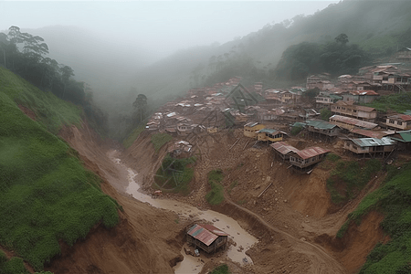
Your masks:
[{"label": "fog-veiled upper hillside behind the village, at upper right", "polygon": [[[245,80],[263,81],[268,88],[275,85],[272,74],[285,49],[301,42],[324,44],[345,33],[350,44],[358,44],[374,58],[388,57],[398,47],[411,41],[406,37],[411,19],[409,1],[342,1],[311,16],[295,16],[289,21],[264,26],[248,36],[221,46],[196,47],[182,50],[165,58],[137,75],[134,85],[147,94],[178,94],[201,86],[213,75],[213,57],[216,64],[229,65],[230,60],[247,57],[243,72],[229,66],[225,79],[242,76]],[[179,64],[175,68],[175,64]],[[254,76],[248,69],[259,71]],[[199,80],[196,82],[195,77]],[[206,82],[209,84],[208,82]],[[277,84],[280,84],[277,81]],[[275,87],[274,87],[275,88]]]}]

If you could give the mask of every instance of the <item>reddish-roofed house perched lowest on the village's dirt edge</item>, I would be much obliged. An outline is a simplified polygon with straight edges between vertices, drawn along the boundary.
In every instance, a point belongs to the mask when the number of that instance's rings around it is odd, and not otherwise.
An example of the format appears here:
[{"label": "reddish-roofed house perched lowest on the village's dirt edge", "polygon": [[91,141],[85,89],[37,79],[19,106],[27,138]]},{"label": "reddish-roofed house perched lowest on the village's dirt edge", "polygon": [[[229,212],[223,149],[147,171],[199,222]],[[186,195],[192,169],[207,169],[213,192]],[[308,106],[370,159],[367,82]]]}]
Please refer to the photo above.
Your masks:
[{"label": "reddish-roofed house perched lowest on the village's dirt edge", "polygon": [[299,171],[310,170],[315,163],[319,163],[330,153],[330,150],[315,146],[290,154],[290,163]]}]

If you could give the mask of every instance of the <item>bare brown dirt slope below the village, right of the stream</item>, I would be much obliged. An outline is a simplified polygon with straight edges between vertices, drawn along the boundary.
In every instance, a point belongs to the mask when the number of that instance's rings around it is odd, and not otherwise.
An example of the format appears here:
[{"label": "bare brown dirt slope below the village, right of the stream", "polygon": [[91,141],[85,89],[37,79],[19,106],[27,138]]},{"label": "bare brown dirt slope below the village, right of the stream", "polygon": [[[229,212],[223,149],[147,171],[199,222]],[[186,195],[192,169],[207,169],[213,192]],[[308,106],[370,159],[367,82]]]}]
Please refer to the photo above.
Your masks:
[{"label": "bare brown dirt slope below the village, right of the stream", "polygon": [[[294,173],[274,160],[269,147],[253,148],[254,142],[243,137],[240,130],[204,134],[189,141],[195,145],[198,156],[193,191],[187,197],[175,195],[174,198],[209,207],[205,201],[209,190],[206,174],[216,168],[223,169],[226,178],[222,184],[230,201],[213,209],[236,218],[260,239],[258,246],[248,252],[256,273],[354,273],[374,245],[384,240],[378,226],[381,218],[373,216],[366,217],[360,227],[350,227],[347,237],[335,239],[346,216],[366,191],[349,205],[329,214],[333,206],[326,189],[329,170],[317,167],[311,174]],[[288,142],[299,149],[321,145],[341,153],[340,142],[318,144],[304,139]],[[127,162],[134,164],[144,177],[147,189],[164,154],[165,146],[160,153],[153,152],[149,135],[141,136],[124,152]]]}]

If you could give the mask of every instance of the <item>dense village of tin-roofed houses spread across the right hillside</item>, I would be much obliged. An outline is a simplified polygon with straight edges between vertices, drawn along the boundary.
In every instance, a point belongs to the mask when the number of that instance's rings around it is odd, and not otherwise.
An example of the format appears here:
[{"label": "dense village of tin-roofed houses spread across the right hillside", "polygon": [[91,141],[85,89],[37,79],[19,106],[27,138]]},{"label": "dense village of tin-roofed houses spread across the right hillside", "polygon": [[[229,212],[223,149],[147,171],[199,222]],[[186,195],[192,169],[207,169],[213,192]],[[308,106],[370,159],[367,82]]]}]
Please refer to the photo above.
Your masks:
[{"label": "dense village of tin-roofed houses spread across the right hillside", "polygon": [[[245,88],[240,81],[237,77],[188,90],[183,100],[169,102],[156,112],[146,129],[181,138],[170,146],[170,153],[187,157],[192,153],[190,139],[227,127],[242,128],[244,136],[270,145],[279,159],[301,172],[310,172],[330,151],[290,146],[286,139],[292,138],[293,129],[323,142],[340,138],[346,152],[361,157],[388,157],[411,142],[411,111],[383,113],[362,105],[411,90],[411,70],[372,66],[334,82],[323,73],[307,78],[306,87],[287,90],[264,90],[261,82]],[[307,100],[304,93],[314,89],[318,90],[315,101]],[[329,121],[319,117],[324,109],[331,111]]]}]

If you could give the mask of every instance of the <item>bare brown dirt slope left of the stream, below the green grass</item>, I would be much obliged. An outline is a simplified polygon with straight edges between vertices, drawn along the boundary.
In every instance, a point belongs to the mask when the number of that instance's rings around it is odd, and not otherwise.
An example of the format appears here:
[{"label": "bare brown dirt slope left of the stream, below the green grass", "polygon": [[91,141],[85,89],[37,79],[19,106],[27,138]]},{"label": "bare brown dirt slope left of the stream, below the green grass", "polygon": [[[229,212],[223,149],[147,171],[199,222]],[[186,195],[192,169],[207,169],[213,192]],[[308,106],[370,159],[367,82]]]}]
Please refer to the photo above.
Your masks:
[{"label": "bare brown dirt slope left of the stream, below the green grass", "polygon": [[174,273],[172,267],[181,259],[175,239],[184,223],[177,225],[173,214],[118,193],[116,189],[127,186],[126,171],[111,162],[105,144],[87,124],[81,129],[65,128],[60,136],[79,152],[87,167],[105,179],[103,191],[113,196],[124,212],[119,226],[110,230],[94,227],[73,247],[63,244],[62,255],[46,269],[55,273]]}]

